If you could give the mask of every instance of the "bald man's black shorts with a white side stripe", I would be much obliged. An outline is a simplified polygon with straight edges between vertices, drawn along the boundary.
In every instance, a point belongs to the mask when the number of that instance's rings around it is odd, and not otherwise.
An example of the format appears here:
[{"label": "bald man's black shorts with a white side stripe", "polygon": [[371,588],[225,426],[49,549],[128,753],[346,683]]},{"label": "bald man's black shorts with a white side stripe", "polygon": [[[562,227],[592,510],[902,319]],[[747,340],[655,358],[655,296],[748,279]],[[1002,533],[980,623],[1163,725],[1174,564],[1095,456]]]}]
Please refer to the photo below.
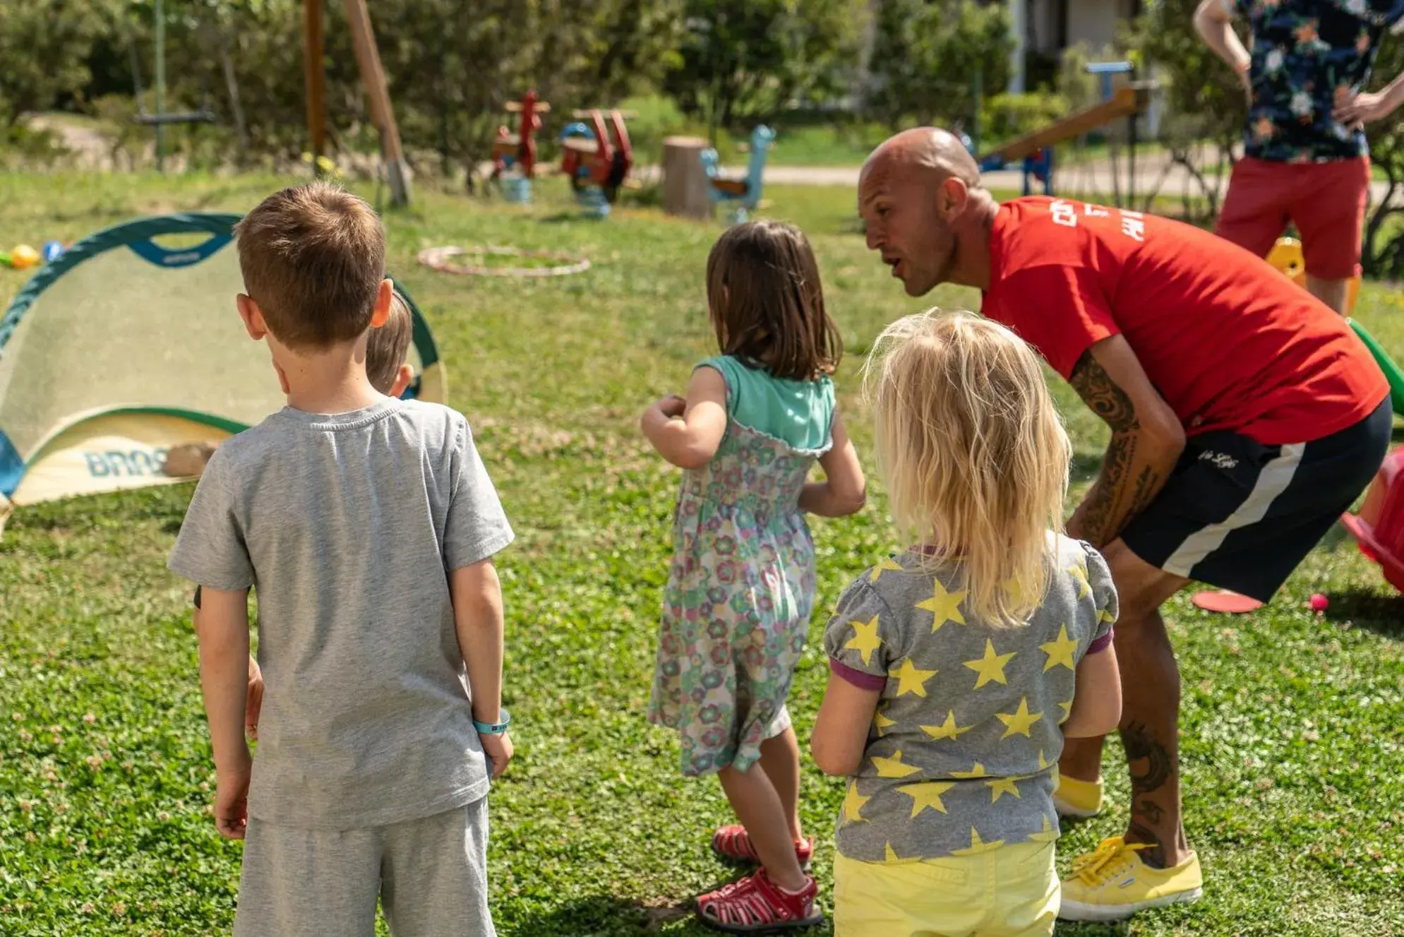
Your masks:
[{"label": "bald man's black shorts with a white side stripe", "polygon": [[1393,427],[1386,398],[1355,426],[1313,443],[1192,435],[1122,539],[1168,573],[1266,603],[1375,478]]}]

